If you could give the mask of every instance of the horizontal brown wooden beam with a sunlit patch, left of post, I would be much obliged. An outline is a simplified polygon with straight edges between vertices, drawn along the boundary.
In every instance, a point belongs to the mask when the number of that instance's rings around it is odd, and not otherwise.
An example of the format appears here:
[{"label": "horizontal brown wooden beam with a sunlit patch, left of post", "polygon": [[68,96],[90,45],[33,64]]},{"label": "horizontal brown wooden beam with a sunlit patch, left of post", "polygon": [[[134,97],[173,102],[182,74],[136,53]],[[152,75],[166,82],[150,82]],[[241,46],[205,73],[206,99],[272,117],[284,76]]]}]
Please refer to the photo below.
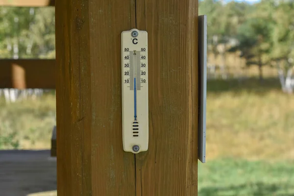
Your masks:
[{"label": "horizontal brown wooden beam with a sunlit patch, left of post", "polygon": [[0,88],[55,89],[55,59],[0,59]]}]

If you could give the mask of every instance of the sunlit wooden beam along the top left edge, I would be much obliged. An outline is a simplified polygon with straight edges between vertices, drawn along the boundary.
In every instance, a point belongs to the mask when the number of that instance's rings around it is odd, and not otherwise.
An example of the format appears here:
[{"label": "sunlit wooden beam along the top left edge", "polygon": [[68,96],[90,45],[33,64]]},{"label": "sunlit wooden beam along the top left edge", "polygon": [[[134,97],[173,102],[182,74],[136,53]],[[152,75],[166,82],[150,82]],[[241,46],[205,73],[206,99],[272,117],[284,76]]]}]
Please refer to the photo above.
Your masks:
[{"label": "sunlit wooden beam along the top left edge", "polygon": [[54,5],[55,0],[0,0],[0,6],[7,7],[42,7]]}]

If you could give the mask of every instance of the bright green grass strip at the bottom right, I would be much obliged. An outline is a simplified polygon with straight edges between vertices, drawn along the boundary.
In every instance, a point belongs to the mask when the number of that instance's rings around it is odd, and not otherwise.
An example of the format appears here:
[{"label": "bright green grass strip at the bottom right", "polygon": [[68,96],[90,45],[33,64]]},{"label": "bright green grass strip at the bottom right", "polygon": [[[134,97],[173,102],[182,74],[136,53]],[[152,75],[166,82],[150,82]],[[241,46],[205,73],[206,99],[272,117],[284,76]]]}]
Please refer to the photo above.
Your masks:
[{"label": "bright green grass strip at the bottom right", "polygon": [[199,196],[294,196],[294,161],[221,159],[198,170]]}]

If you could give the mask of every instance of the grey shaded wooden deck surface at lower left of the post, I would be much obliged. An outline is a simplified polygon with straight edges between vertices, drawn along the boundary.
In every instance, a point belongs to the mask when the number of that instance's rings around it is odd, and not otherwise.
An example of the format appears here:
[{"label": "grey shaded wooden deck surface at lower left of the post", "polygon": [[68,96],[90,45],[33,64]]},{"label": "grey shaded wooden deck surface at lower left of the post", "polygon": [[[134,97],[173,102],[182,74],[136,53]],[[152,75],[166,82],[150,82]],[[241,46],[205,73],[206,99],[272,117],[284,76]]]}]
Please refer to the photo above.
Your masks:
[{"label": "grey shaded wooden deck surface at lower left of the post", "polygon": [[0,150],[0,196],[56,196],[55,190],[50,150]]}]

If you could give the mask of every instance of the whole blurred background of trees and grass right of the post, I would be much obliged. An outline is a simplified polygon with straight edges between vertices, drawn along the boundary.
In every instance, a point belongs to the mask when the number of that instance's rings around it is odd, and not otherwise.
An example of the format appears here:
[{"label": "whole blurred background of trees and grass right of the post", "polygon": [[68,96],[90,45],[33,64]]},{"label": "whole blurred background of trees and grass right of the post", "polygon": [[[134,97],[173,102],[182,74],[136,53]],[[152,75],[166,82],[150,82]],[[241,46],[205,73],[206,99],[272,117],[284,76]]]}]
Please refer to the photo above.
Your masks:
[{"label": "whole blurred background of trees and grass right of the post", "polygon": [[200,196],[294,196],[294,0],[200,0],[207,163]]}]

